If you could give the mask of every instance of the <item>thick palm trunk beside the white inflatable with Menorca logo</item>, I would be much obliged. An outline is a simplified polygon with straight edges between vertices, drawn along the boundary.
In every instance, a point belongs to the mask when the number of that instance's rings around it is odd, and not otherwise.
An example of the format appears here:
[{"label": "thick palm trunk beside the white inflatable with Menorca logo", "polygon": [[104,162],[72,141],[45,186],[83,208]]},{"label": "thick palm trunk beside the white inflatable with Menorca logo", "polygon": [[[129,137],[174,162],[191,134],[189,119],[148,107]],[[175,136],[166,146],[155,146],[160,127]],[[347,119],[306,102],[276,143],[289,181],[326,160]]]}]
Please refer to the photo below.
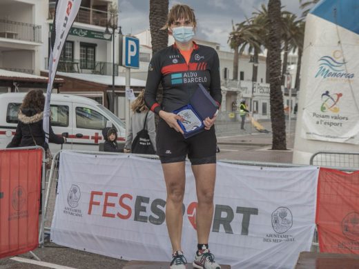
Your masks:
[{"label": "thick palm trunk beside the white inflatable with Menorca logo", "polygon": [[287,150],[283,94],[280,88],[280,39],[281,39],[281,13],[280,0],[269,0],[269,81],[271,83],[271,123],[273,130],[272,150]]}]

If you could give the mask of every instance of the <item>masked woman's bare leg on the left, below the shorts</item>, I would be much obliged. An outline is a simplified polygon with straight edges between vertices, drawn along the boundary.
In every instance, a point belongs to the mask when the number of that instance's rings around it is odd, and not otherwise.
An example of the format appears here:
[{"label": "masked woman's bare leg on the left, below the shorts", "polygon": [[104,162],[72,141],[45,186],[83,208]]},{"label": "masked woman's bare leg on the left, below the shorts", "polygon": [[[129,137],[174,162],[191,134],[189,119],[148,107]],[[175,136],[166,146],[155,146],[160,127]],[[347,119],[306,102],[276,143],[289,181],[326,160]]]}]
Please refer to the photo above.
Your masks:
[{"label": "masked woman's bare leg on the left, below the shorts", "polygon": [[186,174],[184,161],[178,163],[162,163],[164,180],[166,181],[166,224],[171,239],[173,252],[181,249],[182,237],[182,204]]}]

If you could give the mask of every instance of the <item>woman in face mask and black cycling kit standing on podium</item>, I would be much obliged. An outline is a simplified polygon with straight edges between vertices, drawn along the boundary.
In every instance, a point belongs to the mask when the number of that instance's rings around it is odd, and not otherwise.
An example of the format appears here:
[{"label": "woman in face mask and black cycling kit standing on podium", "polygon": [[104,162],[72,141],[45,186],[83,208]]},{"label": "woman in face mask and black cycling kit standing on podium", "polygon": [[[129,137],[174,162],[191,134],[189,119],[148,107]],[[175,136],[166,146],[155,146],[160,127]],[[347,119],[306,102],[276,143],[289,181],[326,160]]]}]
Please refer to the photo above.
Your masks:
[{"label": "woman in face mask and black cycling kit standing on podium", "polygon": [[[220,269],[214,255],[208,249],[208,237],[213,219],[213,194],[217,139],[215,116],[204,120],[205,130],[184,139],[177,123],[182,117],[173,111],[189,103],[202,83],[220,106],[220,61],[217,52],[193,41],[196,19],[193,10],[186,5],[175,5],[168,13],[163,29],[173,36],[175,43],[153,55],[148,66],[145,102],[159,114],[157,126],[157,155],[162,163],[166,181],[166,224],[171,239],[173,260],[171,269],[186,268],[186,258],[181,248],[182,203],[185,187],[185,160],[191,161],[197,192],[197,241],[194,268]],[[163,86],[163,101],[156,100],[159,83]]]}]

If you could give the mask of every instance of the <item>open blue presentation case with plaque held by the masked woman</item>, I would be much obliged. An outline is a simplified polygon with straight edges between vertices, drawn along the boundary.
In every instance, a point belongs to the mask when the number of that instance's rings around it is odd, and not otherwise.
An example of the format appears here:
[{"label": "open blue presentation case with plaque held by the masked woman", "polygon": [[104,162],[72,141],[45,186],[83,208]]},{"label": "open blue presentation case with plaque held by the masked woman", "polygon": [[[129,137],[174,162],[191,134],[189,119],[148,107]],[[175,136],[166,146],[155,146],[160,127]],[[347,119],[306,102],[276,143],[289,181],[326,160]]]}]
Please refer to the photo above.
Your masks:
[{"label": "open blue presentation case with plaque held by the masked woman", "polygon": [[[190,99],[190,103],[186,106],[182,106],[173,113],[179,114],[184,118],[184,121],[177,120],[177,123],[184,131],[184,138],[193,137],[199,132],[204,130],[203,121],[206,117],[213,118],[218,112],[218,105],[211,97],[208,90],[199,83],[197,90]],[[191,121],[188,121],[191,117]]]}]

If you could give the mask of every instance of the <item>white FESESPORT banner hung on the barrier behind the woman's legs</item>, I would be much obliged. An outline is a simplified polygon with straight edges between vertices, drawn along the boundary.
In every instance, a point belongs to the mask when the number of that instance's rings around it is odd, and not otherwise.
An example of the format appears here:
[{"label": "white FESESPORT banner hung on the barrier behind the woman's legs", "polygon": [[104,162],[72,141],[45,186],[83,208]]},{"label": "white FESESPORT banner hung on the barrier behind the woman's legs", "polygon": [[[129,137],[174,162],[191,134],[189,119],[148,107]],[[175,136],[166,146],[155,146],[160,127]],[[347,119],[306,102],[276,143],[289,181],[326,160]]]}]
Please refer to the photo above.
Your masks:
[{"label": "white FESESPORT banner hung on the barrier behind the woman's legs", "polygon": [[[52,220],[55,243],[128,260],[171,261],[157,160],[61,152]],[[309,251],[316,215],[318,169],[217,163],[209,246],[232,268],[293,268]],[[186,163],[182,249],[197,248],[195,182]]]}]

